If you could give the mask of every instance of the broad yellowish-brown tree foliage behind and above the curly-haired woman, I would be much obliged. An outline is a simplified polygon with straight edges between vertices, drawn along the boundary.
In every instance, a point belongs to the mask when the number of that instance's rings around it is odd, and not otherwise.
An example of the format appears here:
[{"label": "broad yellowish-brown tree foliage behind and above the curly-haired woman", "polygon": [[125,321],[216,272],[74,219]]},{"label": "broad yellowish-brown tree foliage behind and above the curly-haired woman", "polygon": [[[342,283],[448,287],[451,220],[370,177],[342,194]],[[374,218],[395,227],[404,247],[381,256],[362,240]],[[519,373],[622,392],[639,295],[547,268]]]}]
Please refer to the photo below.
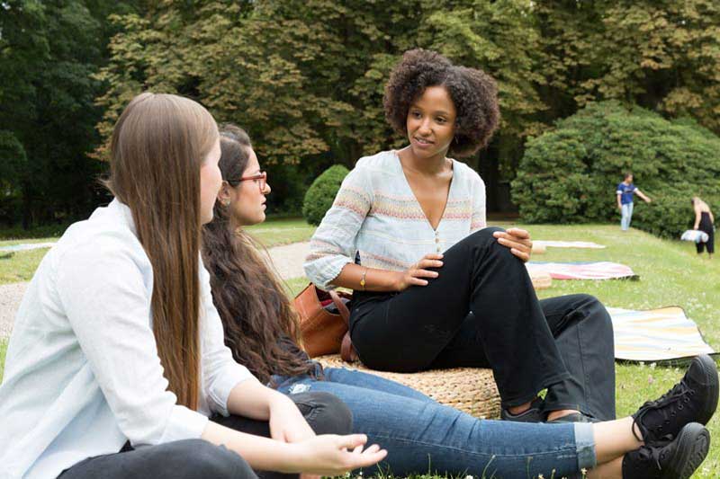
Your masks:
[{"label": "broad yellowish-brown tree foliage behind and above the curly-haired woman", "polygon": [[437,49],[498,80],[500,131],[467,160],[492,204],[526,138],[589,102],[639,104],[717,131],[718,9],[713,0],[148,3],[112,16],[111,60],[95,76],[108,85],[98,128],[106,141],[143,90],[190,96],[248,129],[280,180],[271,201],[299,205],[302,190],[286,186],[404,143],[384,121],[383,85],[403,51]]}]

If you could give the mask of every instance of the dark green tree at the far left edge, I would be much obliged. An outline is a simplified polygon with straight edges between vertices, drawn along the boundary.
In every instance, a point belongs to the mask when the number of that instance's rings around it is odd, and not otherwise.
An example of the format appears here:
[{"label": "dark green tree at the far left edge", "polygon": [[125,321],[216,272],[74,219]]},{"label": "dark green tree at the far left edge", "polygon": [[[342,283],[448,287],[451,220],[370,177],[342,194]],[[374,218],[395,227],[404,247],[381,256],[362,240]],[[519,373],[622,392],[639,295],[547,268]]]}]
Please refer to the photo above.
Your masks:
[{"label": "dark green tree at the far left edge", "polygon": [[[94,105],[102,85],[92,78],[104,61],[104,14],[132,3],[14,0],[0,6],[0,131],[17,152],[14,210],[25,226],[85,216],[102,200],[103,164],[87,153],[99,137]],[[13,137],[14,139],[8,139]],[[21,153],[22,152],[22,153]],[[9,182],[7,178],[5,182]]]}]

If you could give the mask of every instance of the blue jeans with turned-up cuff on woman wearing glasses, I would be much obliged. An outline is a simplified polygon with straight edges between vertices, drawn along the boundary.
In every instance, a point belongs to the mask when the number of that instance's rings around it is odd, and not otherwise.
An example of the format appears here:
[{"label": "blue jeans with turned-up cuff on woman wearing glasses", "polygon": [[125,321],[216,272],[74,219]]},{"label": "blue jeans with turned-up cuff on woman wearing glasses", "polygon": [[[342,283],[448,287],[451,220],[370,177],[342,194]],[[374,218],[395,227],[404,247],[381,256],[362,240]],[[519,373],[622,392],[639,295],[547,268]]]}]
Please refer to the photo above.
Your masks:
[{"label": "blue jeans with turned-up cuff on woman wearing glasses", "polygon": [[382,377],[345,368],[324,374],[275,377],[275,384],[289,395],[337,395],[353,412],[353,431],[388,450],[378,466],[383,472],[527,479],[570,477],[595,466],[590,424],[479,420]]}]

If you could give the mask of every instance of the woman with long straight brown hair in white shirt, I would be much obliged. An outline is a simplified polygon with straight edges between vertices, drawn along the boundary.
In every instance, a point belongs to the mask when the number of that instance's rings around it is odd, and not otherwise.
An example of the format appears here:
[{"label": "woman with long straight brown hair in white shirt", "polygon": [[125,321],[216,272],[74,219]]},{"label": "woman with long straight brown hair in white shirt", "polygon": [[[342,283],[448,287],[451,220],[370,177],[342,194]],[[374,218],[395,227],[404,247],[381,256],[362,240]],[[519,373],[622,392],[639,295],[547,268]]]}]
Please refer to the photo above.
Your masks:
[{"label": "woman with long straight brown hair in white shirt", "polygon": [[[362,451],[363,436],[316,436],[223,344],[200,258],[221,182],[210,113],[140,94],[117,121],[111,156],[115,199],[67,229],[15,320],[0,476],[336,475],[380,460],[377,446]],[[329,406],[349,430],[347,409]],[[251,420],[273,439],[243,432]]]}]

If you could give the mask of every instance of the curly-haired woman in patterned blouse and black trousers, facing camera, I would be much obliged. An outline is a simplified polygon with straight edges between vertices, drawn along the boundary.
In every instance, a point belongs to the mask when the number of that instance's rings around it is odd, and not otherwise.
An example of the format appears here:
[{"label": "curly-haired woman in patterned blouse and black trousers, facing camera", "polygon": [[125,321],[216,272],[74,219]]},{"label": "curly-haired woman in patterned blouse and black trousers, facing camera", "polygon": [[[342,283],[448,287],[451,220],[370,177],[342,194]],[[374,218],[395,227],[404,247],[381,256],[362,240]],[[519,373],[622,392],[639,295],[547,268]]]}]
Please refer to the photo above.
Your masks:
[{"label": "curly-haired woman in patterned blouse and black trousers, facing camera", "polygon": [[320,288],[355,290],[360,359],[397,372],[492,368],[503,419],[614,419],[605,307],[588,295],[538,301],[524,265],[530,235],[487,227],[482,179],[452,159],[497,129],[495,81],[414,49],[392,71],[384,107],[409,145],[357,162],[305,262]]}]

